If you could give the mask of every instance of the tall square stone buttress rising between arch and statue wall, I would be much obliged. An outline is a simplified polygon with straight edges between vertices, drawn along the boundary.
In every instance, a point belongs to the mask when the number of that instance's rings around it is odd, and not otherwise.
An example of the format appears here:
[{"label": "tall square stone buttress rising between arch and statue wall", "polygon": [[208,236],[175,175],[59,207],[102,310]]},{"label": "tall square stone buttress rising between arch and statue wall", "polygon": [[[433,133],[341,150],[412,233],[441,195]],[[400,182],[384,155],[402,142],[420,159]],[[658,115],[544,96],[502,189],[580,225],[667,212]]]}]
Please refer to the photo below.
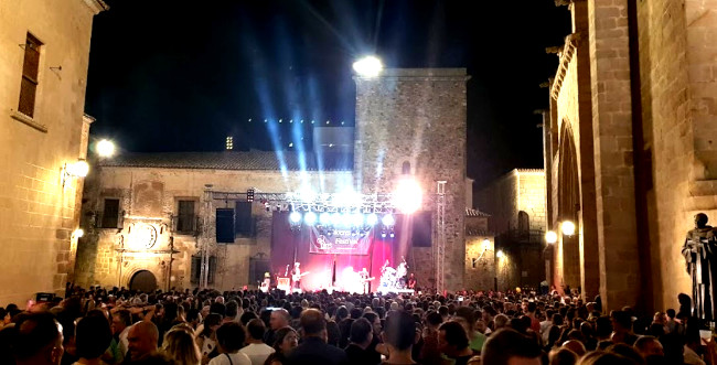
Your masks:
[{"label": "tall square stone buttress rising between arch and statue wall", "polygon": [[600,296],[611,310],[640,300],[628,0],[590,0],[588,13]]}]

